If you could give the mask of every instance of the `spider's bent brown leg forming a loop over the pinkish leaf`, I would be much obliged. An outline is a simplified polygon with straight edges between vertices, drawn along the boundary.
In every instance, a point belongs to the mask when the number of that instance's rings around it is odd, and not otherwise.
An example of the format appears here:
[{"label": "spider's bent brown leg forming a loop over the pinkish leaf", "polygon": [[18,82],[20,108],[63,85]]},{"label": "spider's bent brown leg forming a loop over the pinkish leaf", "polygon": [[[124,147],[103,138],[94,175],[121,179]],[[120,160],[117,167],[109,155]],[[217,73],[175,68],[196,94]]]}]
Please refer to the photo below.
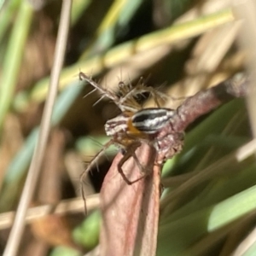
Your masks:
[{"label": "spider's bent brown leg forming a loop over the pinkish leaf", "polygon": [[[123,156],[123,158],[119,161],[118,164],[118,171],[120,173],[120,175],[123,177],[125,183],[127,183],[128,185],[131,185],[132,183],[137,183],[139,180],[143,179],[144,177],[146,177],[148,175],[148,167],[143,166],[140,163],[140,160],[137,158],[137,154],[136,154],[136,150],[137,148],[139,148],[142,145],[142,143],[135,141],[134,143],[131,143],[128,147],[125,148],[125,154]],[[141,177],[137,177],[134,180],[130,180],[127,175],[125,174],[125,172],[123,171],[123,166],[125,164],[125,162],[127,160],[129,160],[130,158],[133,158],[133,160],[135,161],[138,169],[140,170],[140,172],[142,173]],[[128,170],[128,172],[131,170]]]}]

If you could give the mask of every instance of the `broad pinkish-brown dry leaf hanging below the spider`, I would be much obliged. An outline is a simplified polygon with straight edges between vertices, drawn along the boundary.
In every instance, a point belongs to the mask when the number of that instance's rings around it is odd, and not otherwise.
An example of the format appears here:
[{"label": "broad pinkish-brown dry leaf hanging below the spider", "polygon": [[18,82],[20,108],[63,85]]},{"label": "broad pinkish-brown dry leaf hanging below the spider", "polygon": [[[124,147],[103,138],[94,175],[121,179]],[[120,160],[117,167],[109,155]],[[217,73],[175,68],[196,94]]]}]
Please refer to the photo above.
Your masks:
[{"label": "broad pinkish-brown dry leaf hanging below the spider", "polygon": [[[101,255],[155,255],[160,201],[160,167],[154,166],[155,150],[143,144],[136,151],[148,175],[127,185],[119,175],[118,154],[101,190]],[[142,176],[134,158],[123,166],[131,179]]]}]

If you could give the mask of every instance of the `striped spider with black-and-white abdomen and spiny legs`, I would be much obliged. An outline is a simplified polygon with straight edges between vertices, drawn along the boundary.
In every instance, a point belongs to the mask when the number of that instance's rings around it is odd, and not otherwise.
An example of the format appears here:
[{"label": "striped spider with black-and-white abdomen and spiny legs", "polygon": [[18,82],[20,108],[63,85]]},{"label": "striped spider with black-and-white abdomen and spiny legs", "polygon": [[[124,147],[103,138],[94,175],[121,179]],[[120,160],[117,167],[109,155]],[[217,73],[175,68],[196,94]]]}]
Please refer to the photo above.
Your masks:
[{"label": "striped spider with black-and-white abdomen and spiny legs", "polygon": [[[91,84],[95,88],[92,91],[99,90],[102,92],[101,99],[107,96],[121,110],[121,113],[117,117],[109,119],[106,122],[106,134],[112,138],[108,143],[103,145],[94,159],[90,161],[90,164],[80,177],[81,182],[86,173],[96,164],[96,161],[105,150],[113,144],[116,145],[123,154],[123,158],[118,164],[118,170],[127,184],[135,183],[146,175],[145,167],[140,164],[135,154],[136,149],[141,143],[148,143],[157,150],[160,157],[156,160],[156,164],[160,165],[162,165],[166,159],[172,157],[174,153],[181,150],[180,141],[183,139],[183,134],[173,133],[172,127],[171,131],[167,131],[168,134],[161,132],[165,126],[172,126],[171,120],[176,114],[176,110],[174,109],[160,108],[158,98],[166,97],[165,95],[155,91],[152,87],[146,87],[140,81],[135,87],[132,87],[131,84],[126,85],[123,82],[119,82],[119,96],[117,96],[112,91],[103,89],[82,72],[79,73],[79,79],[85,80]],[[158,108],[142,108],[142,106],[137,103],[136,96],[144,92],[149,92],[154,97],[154,102]],[[176,145],[177,139],[179,143]],[[171,152],[173,150],[175,151],[174,153]],[[142,177],[133,181],[130,181],[122,171],[122,166],[130,157],[133,157],[139,169],[144,173]]]}]

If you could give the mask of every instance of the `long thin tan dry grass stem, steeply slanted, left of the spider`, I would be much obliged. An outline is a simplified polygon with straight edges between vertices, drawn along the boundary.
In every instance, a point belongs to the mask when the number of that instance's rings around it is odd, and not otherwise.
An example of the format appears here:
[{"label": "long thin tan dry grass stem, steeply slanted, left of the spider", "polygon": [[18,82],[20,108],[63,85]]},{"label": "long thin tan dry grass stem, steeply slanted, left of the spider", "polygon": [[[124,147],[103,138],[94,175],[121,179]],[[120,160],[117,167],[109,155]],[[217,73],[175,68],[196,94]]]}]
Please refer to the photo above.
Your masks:
[{"label": "long thin tan dry grass stem, steeply slanted, left of the spider", "polygon": [[46,147],[47,139],[49,137],[50,118],[55,102],[61,67],[66,50],[71,3],[71,0],[65,0],[62,4],[61,21],[55,50],[55,63],[49,84],[49,94],[44,108],[42,125],[39,132],[38,146],[35,148],[33,154],[32,163],[28,171],[25,187],[20,198],[19,207],[17,209],[15,223],[13,229],[11,230],[7,246],[5,247],[3,253],[4,256],[15,256],[17,254],[25,226],[26,210],[31,201],[33,191],[36,187],[36,183],[38,180],[40,166],[44,157],[44,150]]}]

